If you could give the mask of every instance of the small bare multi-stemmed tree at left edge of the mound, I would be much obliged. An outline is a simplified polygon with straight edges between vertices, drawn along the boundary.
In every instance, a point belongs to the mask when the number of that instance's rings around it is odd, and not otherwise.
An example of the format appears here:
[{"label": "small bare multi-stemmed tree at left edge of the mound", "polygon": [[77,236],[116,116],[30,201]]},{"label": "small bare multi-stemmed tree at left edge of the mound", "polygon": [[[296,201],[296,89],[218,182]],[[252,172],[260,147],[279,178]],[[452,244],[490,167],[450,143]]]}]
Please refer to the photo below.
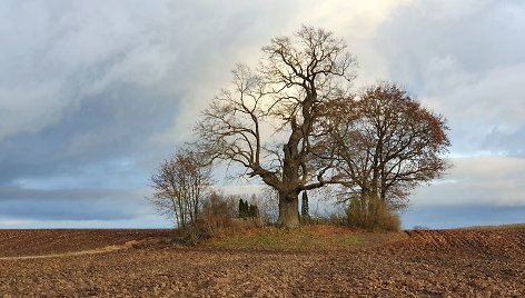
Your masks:
[{"label": "small bare multi-stemmed tree at left edge of the mound", "polygon": [[150,201],[178,228],[185,229],[199,219],[201,203],[210,190],[210,167],[201,161],[195,151],[179,149],[151,176]]}]

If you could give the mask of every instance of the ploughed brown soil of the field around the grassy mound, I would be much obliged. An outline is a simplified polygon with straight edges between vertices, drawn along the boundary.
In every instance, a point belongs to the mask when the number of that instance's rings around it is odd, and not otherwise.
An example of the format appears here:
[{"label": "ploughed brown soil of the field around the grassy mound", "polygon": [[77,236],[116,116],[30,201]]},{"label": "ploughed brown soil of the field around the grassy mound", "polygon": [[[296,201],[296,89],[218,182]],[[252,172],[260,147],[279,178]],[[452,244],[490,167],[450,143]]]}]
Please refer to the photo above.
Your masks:
[{"label": "ploughed brown soil of the field around the grassy mound", "polygon": [[[0,259],[0,297],[525,297],[525,230],[409,231],[383,246],[304,252],[184,248],[159,230],[41,232],[51,242],[77,236],[56,241],[67,249],[39,240],[38,250],[31,237],[0,231],[0,257],[10,257]],[[106,245],[121,249],[12,258]]]}]

